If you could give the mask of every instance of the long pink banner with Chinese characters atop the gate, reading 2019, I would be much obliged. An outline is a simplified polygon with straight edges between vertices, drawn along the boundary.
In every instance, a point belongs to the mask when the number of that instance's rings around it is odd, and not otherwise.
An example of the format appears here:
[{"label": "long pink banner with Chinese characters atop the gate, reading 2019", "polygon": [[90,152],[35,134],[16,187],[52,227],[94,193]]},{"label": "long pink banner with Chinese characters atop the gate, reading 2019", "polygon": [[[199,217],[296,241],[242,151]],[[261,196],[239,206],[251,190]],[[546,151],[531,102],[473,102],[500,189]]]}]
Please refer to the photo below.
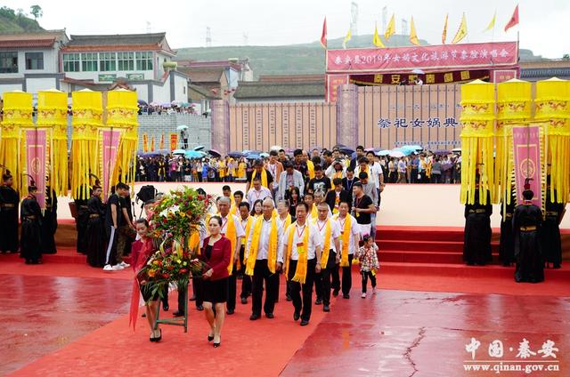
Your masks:
[{"label": "long pink banner with Chinese characters atop the gate, reading 2019", "polygon": [[402,68],[512,68],[517,43],[442,44],[398,48],[327,50],[327,73],[394,71]]}]

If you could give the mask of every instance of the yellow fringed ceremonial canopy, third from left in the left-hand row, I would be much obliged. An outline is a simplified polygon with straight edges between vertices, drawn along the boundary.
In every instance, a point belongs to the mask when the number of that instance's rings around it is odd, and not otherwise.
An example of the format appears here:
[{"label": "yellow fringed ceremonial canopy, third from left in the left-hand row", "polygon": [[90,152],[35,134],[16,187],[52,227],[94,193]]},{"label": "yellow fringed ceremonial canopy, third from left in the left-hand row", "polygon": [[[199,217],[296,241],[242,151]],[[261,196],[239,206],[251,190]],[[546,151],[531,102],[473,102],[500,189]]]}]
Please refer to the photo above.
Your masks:
[{"label": "yellow fringed ceremonial canopy, third from left in the left-hand row", "polygon": [[72,92],[73,135],[71,138],[71,195],[87,199],[91,179],[99,172],[98,128],[102,126],[102,94],[84,89]]}]

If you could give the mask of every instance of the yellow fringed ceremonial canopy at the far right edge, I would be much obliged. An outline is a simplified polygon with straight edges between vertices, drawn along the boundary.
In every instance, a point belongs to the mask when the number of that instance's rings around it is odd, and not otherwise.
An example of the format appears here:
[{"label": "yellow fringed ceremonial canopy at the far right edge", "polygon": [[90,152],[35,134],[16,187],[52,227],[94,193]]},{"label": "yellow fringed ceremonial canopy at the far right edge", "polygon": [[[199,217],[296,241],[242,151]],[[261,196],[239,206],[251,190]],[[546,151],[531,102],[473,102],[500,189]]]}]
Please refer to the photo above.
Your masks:
[{"label": "yellow fringed ceremonial canopy at the far right edge", "polygon": [[534,118],[546,124],[550,198],[570,201],[570,81],[556,77],[536,83]]}]

